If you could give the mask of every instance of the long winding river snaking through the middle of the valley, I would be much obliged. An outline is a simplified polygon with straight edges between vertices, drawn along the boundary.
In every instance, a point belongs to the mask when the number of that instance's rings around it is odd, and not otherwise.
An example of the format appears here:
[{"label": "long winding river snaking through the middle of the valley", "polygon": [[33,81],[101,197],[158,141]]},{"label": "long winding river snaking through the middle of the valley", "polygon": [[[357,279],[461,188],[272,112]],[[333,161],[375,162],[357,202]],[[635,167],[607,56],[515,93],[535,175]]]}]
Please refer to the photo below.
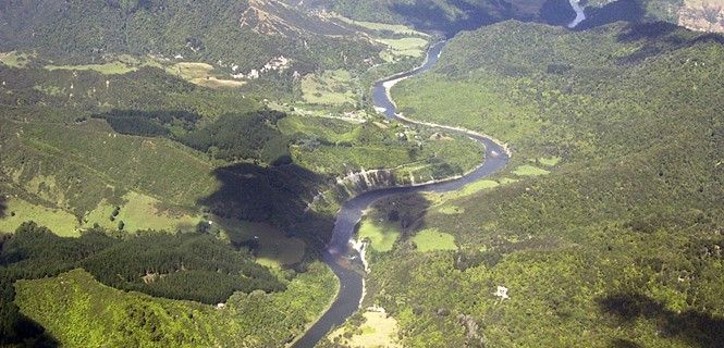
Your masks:
[{"label": "long winding river snaking through the middle of the valley", "polygon": [[[333,327],[343,324],[349,315],[359,309],[364,296],[364,275],[345,265],[349,263],[349,253],[356,252],[351,248],[355,226],[361,220],[363,212],[371,203],[381,198],[398,194],[430,191],[444,192],[457,190],[461,187],[479,181],[506,165],[510,158],[507,149],[490,137],[463,128],[416,122],[397,114],[395,103],[390,96],[390,88],[400,80],[429,71],[438,62],[444,46],[444,41],[431,46],[427,52],[425,63],[421,66],[406,73],[388,77],[386,79],[375,84],[372,89],[375,108],[390,120],[409,125],[435,127],[445,130],[446,133],[465,135],[474,140],[480,141],[486,147],[484,158],[480,159],[481,164],[462,177],[440,183],[422,184],[419,186],[382,188],[361,194],[345,202],[336,215],[332,239],[328,245],[327,251],[323,253],[323,261],[332,269],[332,271],[334,271],[334,274],[336,274],[340,279],[340,291],[327,312],[324,312],[324,314],[322,314],[322,316],[309,327],[304,336],[299,337],[299,339],[292,345],[292,347],[314,347]],[[355,257],[358,258],[359,256],[355,254]]]}]

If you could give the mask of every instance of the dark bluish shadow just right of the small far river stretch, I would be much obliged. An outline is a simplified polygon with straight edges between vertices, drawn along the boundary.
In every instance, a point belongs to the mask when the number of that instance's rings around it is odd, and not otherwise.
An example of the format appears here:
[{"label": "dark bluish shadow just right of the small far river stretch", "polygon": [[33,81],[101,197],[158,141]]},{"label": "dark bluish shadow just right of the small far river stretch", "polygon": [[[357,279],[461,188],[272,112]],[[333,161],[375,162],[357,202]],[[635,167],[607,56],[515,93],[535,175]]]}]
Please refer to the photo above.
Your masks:
[{"label": "dark bluish shadow just right of the small far river stretch", "polygon": [[646,9],[640,0],[618,0],[600,9],[586,9],[586,21],[578,24],[576,30],[586,30],[622,21],[638,23],[646,15]]}]

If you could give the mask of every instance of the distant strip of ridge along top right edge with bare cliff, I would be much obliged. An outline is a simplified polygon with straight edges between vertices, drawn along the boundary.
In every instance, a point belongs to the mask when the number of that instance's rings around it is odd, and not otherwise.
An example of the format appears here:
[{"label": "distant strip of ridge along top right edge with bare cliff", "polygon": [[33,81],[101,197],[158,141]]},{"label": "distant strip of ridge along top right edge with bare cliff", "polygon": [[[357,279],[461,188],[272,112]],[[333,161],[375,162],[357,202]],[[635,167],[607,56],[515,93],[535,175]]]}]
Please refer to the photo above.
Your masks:
[{"label": "distant strip of ridge along top right edge with bare cliff", "polygon": [[[447,35],[504,20],[568,24],[569,0],[286,0],[360,21],[401,22]],[[698,32],[724,33],[724,0],[579,0],[588,20],[581,28],[617,21],[664,21]]]}]

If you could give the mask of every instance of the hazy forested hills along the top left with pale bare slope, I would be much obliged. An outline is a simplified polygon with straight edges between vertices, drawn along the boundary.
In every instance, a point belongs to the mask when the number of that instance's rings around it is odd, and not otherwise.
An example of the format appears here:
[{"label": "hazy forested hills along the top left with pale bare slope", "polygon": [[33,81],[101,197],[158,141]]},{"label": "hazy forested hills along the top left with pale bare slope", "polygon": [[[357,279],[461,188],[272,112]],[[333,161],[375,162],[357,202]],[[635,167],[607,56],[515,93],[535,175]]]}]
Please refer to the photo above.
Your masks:
[{"label": "hazy forested hills along the top left with pale bare slope", "polygon": [[245,74],[281,55],[298,71],[360,67],[380,51],[344,24],[277,0],[3,1],[0,51],[16,49],[75,64],[113,53],[183,57]]}]

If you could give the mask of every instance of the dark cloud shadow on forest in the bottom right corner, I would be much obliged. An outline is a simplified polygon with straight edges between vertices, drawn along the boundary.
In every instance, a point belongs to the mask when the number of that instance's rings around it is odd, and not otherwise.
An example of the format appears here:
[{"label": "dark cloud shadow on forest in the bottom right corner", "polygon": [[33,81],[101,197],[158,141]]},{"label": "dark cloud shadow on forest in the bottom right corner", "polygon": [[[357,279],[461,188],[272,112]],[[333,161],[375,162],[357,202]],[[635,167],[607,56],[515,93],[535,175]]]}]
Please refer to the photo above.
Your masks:
[{"label": "dark cloud shadow on forest in the bottom right corner", "polygon": [[599,306],[622,324],[633,324],[639,319],[651,320],[664,337],[675,337],[692,347],[724,347],[724,318],[694,310],[677,313],[639,294],[611,295],[600,299]]}]

